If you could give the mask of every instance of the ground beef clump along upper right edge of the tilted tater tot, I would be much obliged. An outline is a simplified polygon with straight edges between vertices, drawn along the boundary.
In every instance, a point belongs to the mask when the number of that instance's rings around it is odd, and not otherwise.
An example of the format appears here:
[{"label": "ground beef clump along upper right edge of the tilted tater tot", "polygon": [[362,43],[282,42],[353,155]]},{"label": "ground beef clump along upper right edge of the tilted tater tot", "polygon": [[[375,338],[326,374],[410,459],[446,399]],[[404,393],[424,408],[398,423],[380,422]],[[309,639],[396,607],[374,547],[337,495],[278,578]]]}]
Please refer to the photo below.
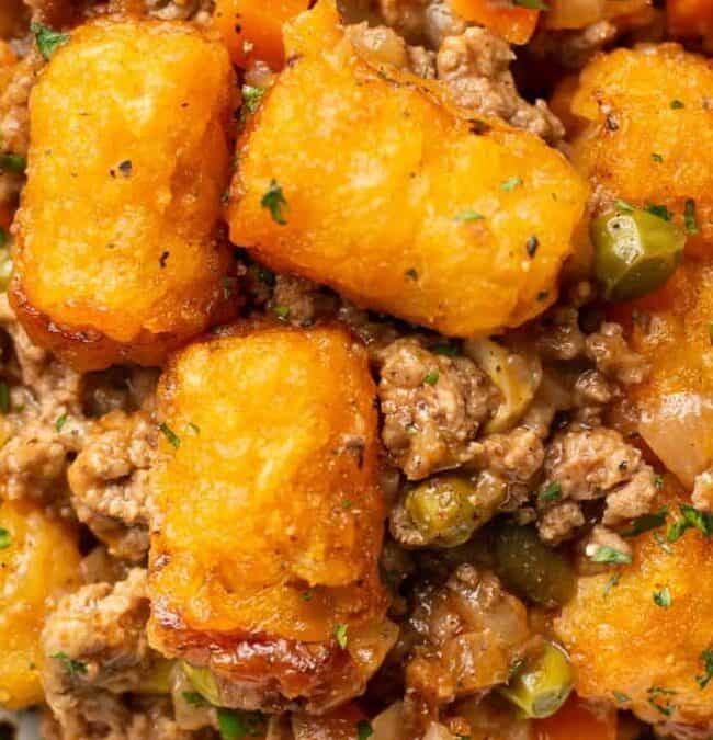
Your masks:
[{"label": "ground beef clump along upper right edge of the tilted tater tot", "polygon": [[555,143],[565,129],[543,100],[523,100],[510,72],[514,55],[510,46],[486,29],[472,26],[460,36],[443,39],[437,57],[438,77],[454,102],[479,115],[502,118]]}]

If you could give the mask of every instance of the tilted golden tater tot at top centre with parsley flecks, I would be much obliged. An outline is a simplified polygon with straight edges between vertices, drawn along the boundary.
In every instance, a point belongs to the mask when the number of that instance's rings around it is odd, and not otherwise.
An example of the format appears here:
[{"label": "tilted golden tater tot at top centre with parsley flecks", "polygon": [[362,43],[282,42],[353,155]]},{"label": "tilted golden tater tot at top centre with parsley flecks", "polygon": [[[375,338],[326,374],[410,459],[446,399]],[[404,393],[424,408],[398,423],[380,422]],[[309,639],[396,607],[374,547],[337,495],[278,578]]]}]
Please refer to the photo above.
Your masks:
[{"label": "tilted golden tater tot at top centre with parsley flecks", "polygon": [[231,240],[446,334],[548,306],[587,198],[564,157],[459,116],[432,83],[371,67],[329,0],[287,29],[293,62],[239,141]]}]

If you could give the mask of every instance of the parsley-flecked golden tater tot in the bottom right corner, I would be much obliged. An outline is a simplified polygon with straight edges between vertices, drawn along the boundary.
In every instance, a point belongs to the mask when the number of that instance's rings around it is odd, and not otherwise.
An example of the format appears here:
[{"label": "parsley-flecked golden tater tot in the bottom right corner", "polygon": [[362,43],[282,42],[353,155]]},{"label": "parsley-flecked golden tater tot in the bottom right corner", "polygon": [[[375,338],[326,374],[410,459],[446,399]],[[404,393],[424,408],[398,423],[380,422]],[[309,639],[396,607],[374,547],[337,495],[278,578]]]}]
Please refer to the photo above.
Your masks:
[{"label": "parsley-flecked golden tater tot in the bottom right corner", "polygon": [[[679,501],[668,503],[670,524]],[[711,731],[713,682],[705,680],[705,658],[713,639],[713,540],[695,528],[674,543],[666,535],[666,527],[640,535],[630,540],[632,565],[581,577],[555,629],[580,696],[615,702],[649,722]]]}]

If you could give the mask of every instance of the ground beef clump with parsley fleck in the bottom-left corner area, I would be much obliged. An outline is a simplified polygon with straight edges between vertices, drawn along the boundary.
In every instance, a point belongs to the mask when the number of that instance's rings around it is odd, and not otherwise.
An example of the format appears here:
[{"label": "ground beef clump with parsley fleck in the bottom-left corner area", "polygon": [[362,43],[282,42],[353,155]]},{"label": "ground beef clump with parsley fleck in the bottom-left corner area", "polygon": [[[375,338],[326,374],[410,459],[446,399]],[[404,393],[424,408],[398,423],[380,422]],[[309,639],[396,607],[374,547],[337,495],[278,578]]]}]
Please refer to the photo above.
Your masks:
[{"label": "ground beef clump with parsley fleck in the bottom-left corner area", "polygon": [[146,571],[138,568],[124,581],[86,585],[59,602],[42,634],[47,656],[43,685],[55,716],[55,737],[195,737],[176,726],[165,701],[142,707],[125,696],[140,687],[160,660],[148,647],[148,614]]}]

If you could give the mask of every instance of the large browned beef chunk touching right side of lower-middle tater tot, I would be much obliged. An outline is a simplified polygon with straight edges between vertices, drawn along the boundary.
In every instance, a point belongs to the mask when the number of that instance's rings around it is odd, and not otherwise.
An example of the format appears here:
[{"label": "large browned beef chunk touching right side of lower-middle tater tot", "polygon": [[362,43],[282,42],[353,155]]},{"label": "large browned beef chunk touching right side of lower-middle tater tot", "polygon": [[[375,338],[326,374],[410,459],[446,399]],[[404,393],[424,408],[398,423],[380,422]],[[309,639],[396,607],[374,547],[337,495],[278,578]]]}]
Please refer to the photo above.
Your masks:
[{"label": "large browned beef chunk touching right side of lower-middle tater tot", "polygon": [[416,480],[471,460],[496,400],[475,363],[434,354],[414,339],[391,343],[380,360],[382,437],[406,476]]}]

